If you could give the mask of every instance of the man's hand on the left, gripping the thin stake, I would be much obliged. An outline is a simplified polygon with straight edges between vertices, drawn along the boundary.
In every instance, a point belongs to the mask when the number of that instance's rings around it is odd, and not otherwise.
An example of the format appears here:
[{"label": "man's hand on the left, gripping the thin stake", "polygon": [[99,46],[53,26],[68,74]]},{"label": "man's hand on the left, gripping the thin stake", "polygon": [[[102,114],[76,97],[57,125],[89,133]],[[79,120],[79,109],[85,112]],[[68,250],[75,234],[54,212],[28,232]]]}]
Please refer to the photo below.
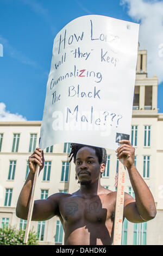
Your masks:
[{"label": "man's hand on the left, gripping the thin stake", "polygon": [[43,150],[40,148],[36,148],[34,153],[31,156],[29,156],[28,162],[31,173],[35,173],[37,164],[39,164],[41,171],[44,165]]}]

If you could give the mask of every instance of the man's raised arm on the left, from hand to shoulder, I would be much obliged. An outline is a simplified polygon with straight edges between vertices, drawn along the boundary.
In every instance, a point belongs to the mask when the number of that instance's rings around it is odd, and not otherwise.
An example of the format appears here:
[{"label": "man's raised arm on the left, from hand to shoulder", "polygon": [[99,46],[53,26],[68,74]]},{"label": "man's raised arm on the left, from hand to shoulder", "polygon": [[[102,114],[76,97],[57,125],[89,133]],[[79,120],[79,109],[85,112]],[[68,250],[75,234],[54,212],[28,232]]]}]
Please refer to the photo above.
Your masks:
[{"label": "man's raised arm on the left, from hand to shoulder", "polygon": [[[43,150],[36,148],[34,153],[29,157],[29,174],[27,180],[21,190],[18,197],[16,206],[16,216],[27,220],[30,197],[32,193],[32,186],[34,181],[34,175],[36,171],[36,164],[39,164],[40,171],[43,168],[44,157]],[[53,217],[58,211],[58,195],[52,195],[45,200],[35,200],[32,221],[44,221]]]}]

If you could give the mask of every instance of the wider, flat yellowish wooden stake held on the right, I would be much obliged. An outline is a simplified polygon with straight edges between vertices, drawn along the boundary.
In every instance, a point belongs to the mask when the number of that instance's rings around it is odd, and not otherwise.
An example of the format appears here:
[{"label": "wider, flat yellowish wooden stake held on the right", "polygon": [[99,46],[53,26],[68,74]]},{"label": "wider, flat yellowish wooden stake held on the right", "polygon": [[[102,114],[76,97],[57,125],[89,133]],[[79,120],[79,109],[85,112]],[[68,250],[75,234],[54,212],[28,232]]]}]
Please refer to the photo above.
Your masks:
[{"label": "wider, flat yellowish wooden stake held on the right", "polygon": [[122,240],[124,180],[125,180],[125,169],[123,167],[122,162],[119,161],[113,245],[121,245],[121,240]]}]

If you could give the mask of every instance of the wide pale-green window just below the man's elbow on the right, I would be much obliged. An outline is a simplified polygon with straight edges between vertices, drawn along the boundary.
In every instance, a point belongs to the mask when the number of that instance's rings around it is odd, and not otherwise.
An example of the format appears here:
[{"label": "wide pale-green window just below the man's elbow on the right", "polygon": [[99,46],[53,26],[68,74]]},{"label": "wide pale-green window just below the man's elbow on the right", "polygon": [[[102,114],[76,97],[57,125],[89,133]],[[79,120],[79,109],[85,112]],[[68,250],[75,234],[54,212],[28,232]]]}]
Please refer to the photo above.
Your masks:
[{"label": "wide pale-green window just below the man's elbow on the right", "polygon": [[146,240],[147,240],[147,222],[134,223],[133,245],[146,245]]}]

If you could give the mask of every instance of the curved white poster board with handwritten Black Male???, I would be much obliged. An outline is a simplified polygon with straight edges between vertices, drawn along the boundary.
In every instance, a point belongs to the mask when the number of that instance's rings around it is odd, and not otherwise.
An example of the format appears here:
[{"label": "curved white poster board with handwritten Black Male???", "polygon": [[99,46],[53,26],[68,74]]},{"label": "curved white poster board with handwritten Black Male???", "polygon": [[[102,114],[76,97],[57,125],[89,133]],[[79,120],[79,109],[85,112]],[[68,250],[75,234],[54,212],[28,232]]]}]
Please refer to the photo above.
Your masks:
[{"label": "curved white poster board with handwritten Black Male???", "polygon": [[[101,15],[68,23],[54,39],[41,149],[73,142],[109,149],[129,138],[139,25]],[[122,136],[123,135],[123,136]]]}]

